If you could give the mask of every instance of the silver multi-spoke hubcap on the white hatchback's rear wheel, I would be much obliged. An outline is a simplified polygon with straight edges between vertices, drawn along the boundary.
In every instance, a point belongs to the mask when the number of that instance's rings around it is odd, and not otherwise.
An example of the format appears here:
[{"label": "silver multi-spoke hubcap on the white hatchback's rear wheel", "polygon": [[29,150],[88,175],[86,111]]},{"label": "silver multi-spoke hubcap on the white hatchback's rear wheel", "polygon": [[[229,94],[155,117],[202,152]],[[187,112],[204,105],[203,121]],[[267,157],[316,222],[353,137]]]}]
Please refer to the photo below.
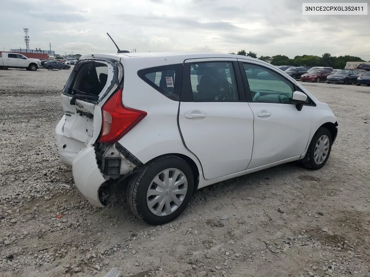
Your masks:
[{"label": "silver multi-spoke hubcap on the white hatchback's rear wheel", "polygon": [[155,215],[169,215],[179,208],[187,191],[188,179],[181,170],[176,168],[163,170],[149,185],[148,208]]}]

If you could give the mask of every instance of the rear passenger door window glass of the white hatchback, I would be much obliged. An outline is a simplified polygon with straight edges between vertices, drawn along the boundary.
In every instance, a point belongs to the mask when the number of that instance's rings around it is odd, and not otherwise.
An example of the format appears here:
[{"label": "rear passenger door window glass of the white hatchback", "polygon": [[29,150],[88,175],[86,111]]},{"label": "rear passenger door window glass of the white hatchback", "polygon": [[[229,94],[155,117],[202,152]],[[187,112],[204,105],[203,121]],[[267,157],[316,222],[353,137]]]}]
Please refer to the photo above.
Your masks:
[{"label": "rear passenger door window glass of the white hatchback", "polygon": [[199,62],[190,68],[194,101],[239,100],[232,62]]}]

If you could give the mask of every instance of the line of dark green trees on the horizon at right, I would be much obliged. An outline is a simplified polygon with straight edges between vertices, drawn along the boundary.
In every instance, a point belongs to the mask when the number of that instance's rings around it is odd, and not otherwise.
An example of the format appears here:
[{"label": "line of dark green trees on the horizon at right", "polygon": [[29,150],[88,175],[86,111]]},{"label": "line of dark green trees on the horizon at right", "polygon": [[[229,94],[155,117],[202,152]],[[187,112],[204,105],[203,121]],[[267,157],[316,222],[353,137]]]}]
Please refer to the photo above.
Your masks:
[{"label": "line of dark green trees on the horizon at right", "polygon": [[[229,53],[235,54],[235,53]],[[236,55],[247,56],[251,58],[257,58],[255,52],[249,51],[247,53],[245,50],[240,50]],[[354,57],[350,55],[333,57],[330,53],[324,53],[322,57],[312,56],[312,55],[302,55],[295,56],[294,59],[289,59],[284,55],[276,56],[260,56],[258,59],[266,60],[272,58],[272,65],[294,65],[294,66],[330,66],[332,68],[344,68],[346,62],[364,62],[360,57]]]}]

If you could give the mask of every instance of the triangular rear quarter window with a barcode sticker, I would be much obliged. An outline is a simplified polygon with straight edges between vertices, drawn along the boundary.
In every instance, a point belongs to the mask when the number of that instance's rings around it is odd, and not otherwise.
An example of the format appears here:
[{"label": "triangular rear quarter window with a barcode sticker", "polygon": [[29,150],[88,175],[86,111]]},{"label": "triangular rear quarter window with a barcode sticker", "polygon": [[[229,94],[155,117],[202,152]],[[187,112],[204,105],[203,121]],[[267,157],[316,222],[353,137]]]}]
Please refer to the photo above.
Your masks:
[{"label": "triangular rear quarter window with a barcode sticker", "polygon": [[182,64],[141,69],[138,76],[167,98],[180,100]]}]

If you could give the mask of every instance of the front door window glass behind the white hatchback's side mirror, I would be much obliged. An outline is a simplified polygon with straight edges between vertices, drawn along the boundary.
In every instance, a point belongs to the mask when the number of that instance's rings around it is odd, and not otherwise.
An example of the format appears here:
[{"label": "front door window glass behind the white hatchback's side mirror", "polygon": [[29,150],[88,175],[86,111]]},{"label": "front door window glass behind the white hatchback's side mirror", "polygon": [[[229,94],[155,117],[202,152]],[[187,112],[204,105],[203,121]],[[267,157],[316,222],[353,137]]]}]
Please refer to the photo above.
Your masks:
[{"label": "front door window glass behind the white hatchback's side mirror", "polygon": [[263,70],[257,78],[249,78],[248,85],[254,102],[292,102],[294,86],[280,74],[255,64],[243,63],[244,70]]}]

